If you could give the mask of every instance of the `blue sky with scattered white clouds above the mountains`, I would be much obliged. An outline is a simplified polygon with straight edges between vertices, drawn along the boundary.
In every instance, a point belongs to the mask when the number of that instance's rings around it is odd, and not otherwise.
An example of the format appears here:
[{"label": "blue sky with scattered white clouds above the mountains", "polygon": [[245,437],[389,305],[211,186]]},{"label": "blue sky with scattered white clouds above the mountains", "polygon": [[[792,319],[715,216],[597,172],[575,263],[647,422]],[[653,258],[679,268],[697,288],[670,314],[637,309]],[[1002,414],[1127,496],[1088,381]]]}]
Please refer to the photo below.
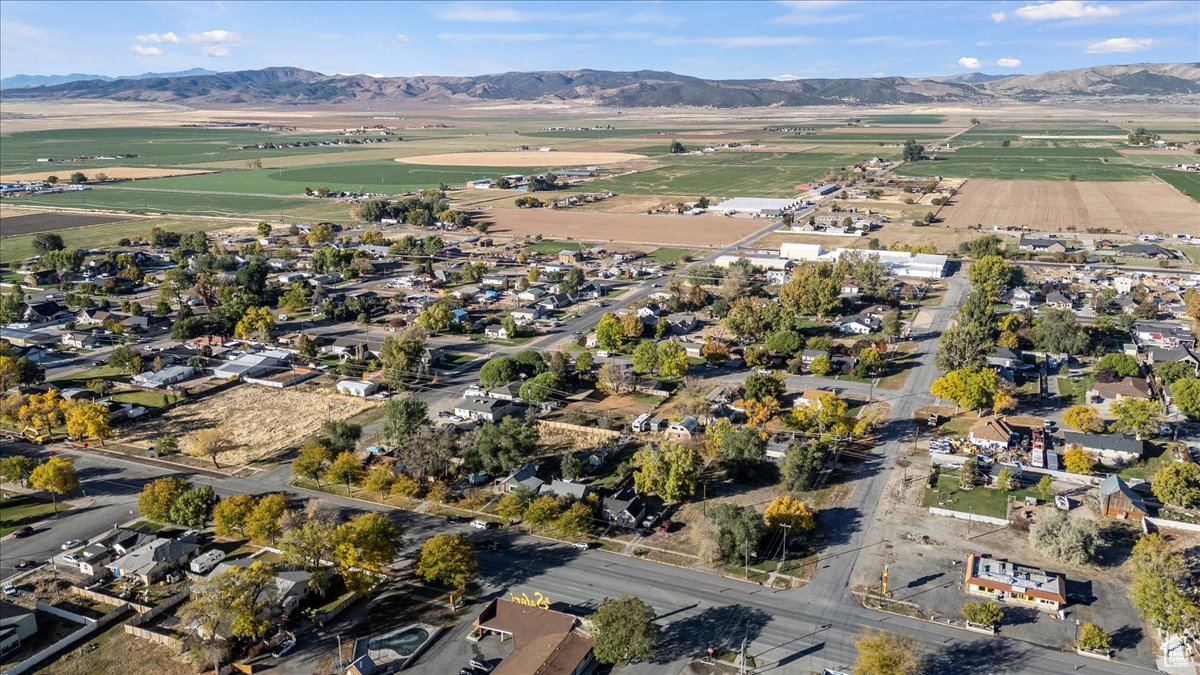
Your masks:
[{"label": "blue sky with scattered white clouds above the mountains", "polygon": [[0,4],[0,74],[1043,72],[1200,60],[1195,1]]}]

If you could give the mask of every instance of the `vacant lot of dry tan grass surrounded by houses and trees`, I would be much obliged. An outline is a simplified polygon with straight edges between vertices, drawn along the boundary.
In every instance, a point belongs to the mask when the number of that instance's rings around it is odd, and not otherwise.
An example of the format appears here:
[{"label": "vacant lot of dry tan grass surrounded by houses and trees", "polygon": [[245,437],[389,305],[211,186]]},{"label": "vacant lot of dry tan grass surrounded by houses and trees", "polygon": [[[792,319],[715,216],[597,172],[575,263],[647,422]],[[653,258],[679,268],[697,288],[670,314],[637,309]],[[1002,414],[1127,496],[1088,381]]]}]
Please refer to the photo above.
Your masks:
[{"label": "vacant lot of dry tan grass surrounded by houses and trees", "polygon": [[[299,446],[326,418],[346,419],[377,405],[374,400],[342,396],[316,386],[269,389],[239,384],[131,426],[118,442],[149,447],[163,434],[176,434],[181,449],[188,452],[194,431],[221,426],[227,431],[230,449],[221,453],[217,461],[245,465]],[[302,414],[296,414],[298,411]]]}]

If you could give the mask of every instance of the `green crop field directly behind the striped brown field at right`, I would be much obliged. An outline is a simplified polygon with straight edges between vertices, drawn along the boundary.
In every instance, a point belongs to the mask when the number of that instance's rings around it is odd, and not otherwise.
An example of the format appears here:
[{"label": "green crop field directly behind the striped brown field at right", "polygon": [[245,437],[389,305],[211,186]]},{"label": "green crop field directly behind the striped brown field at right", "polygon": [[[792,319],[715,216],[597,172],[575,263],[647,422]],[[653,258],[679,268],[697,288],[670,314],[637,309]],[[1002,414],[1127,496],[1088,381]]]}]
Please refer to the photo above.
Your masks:
[{"label": "green crop field directly behind the striped brown field at right", "polygon": [[1025,180],[1138,180],[1148,172],[1110,148],[970,147],[940,154],[936,161],[912,162],[904,175],[948,175]]}]

